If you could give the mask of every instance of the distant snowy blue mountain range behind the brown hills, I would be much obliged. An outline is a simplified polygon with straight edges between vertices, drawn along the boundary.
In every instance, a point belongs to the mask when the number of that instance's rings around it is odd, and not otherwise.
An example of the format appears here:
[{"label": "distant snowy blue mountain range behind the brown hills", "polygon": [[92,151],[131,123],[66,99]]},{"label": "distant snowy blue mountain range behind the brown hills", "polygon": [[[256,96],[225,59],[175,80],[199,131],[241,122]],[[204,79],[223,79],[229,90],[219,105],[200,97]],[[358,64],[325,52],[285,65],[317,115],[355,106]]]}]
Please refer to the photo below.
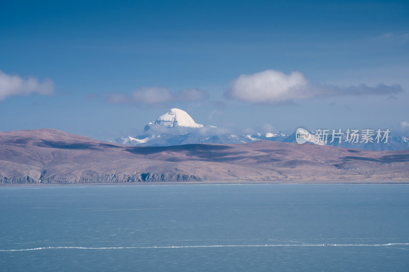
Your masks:
[{"label": "distant snowy blue mountain range behind the brown hills", "polygon": [[[295,132],[289,135],[281,131],[242,135],[223,134],[220,131],[221,130],[214,126],[196,123],[186,111],[173,108],[158,117],[155,121],[149,122],[144,128],[144,134],[132,137],[120,137],[115,140],[108,140],[107,142],[141,146],[171,146],[196,143],[234,144],[257,140],[296,142]],[[312,138],[315,137],[314,132],[310,131],[309,133],[312,135]],[[331,135],[329,135],[327,143],[318,144],[380,151],[409,149],[409,137],[405,136],[390,135],[387,143],[352,143],[346,141],[342,141],[341,143],[333,141],[331,143],[331,139]],[[314,144],[313,141],[307,141],[307,143]]]}]

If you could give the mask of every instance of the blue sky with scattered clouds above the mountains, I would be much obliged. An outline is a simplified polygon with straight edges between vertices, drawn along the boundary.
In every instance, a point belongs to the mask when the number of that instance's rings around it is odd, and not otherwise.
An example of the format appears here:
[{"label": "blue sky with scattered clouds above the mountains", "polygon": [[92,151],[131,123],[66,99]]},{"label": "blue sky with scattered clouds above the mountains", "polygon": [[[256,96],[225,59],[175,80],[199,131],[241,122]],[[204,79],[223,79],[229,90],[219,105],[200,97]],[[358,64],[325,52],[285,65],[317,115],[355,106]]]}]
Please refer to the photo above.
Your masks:
[{"label": "blue sky with scattered clouds above the mountains", "polygon": [[408,91],[407,1],[0,2],[0,131],[110,140],[179,108],[236,133],[397,134]]}]

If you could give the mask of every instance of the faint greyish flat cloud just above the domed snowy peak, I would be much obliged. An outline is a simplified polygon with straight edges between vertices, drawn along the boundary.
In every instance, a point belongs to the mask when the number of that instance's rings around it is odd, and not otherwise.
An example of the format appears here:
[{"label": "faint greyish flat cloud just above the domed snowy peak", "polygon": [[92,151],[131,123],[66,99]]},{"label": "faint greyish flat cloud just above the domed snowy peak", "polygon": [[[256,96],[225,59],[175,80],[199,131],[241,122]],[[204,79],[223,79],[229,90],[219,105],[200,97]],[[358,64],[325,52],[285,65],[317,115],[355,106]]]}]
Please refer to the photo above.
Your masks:
[{"label": "faint greyish flat cloud just above the domed snowy peak", "polygon": [[112,104],[137,104],[137,105],[166,105],[172,102],[194,102],[209,98],[206,91],[199,89],[184,89],[172,93],[163,87],[143,87],[133,91],[130,95],[127,93],[112,92],[107,96],[107,102]]}]

